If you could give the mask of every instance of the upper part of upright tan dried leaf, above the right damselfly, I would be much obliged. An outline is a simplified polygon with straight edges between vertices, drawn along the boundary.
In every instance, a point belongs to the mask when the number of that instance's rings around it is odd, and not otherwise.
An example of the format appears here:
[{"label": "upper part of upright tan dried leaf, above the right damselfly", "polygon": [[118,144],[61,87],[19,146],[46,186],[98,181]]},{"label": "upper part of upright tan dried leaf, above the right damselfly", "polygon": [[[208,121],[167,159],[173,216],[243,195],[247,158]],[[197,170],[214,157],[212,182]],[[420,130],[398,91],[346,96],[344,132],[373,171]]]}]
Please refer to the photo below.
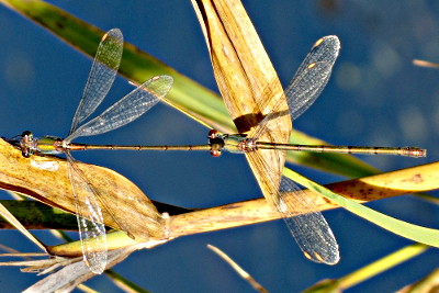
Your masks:
[{"label": "upper part of upright tan dried leaf, above the right damselfly", "polygon": [[240,1],[193,0],[192,4],[228,113],[238,132],[246,133],[273,108],[282,86]]}]

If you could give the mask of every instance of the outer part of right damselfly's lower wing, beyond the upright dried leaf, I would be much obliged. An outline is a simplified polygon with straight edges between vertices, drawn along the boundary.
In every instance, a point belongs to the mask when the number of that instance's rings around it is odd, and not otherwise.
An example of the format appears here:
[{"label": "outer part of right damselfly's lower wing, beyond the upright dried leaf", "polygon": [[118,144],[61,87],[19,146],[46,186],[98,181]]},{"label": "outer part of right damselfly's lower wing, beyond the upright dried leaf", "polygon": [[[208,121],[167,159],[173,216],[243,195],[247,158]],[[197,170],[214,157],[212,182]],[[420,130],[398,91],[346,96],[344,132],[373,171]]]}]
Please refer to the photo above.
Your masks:
[{"label": "outer part of right damselfly's lower wing, beyond the upright dried leaf", "polygon": [[333,230],[314,202],[292,180],[282,177],[278,211],[306,258],[327,264],[340,259]]}]

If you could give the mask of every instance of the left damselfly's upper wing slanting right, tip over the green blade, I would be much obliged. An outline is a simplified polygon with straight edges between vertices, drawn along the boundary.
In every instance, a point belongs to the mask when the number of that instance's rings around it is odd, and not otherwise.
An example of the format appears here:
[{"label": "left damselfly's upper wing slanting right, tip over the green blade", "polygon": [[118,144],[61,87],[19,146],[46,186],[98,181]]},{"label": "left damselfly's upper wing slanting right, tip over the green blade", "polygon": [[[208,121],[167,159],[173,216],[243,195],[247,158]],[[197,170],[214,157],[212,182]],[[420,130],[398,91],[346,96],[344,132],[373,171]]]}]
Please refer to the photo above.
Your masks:
[{"label": "left damselfly's upper wing slanting right, tip over the green blade", "polygon": [[168,93],[172,82],[173,79],[170,76],[153,77],[106,109],[102,114],[80,126],[65,140],[69,143],[79,136],[106,133],[138,119]]}]

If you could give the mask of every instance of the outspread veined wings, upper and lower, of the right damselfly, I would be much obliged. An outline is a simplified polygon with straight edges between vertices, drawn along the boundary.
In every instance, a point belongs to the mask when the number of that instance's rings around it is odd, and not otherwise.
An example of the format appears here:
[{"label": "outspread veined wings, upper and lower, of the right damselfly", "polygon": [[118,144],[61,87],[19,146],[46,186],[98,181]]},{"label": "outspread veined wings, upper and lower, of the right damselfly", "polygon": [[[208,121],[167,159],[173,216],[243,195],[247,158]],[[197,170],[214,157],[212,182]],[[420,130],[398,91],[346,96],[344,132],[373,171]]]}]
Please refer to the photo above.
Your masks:
[{"label": "outspread veined wings, upper and lower, of the right damselfly", "polygon": [[[326,86],[338,50],[336,36],[317,41],[285,90],[288,111],[284,98],[277,97],[274,108],[249,137],[274,142],[275,133],[284,128],[274,120],[288,114],[296,119],[308,109]],[[246,153],[246,157],[268,203],[281,213],[304,255],[316,262],[337,263],[337,241],[322,213],[293,181],[282,177],[284,151],[256,150]]]}]

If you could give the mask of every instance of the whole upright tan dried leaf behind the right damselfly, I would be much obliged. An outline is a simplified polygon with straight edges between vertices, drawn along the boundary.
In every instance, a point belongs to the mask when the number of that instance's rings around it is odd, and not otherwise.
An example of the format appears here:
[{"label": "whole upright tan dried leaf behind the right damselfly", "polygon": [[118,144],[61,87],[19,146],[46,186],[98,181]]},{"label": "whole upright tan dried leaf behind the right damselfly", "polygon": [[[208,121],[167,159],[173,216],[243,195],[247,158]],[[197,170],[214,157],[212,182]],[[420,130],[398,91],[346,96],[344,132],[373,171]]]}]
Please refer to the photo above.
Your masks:
[{"label": "whole upright tan dried leaf behind the right damselfly", "polygon": [[[251,132],[279,101],[283,103],[279,111],[288,113],[282,86],[240,1],[192,0],[192,4],[207,43],[218,89],[238,132]],[[266,126],[277,131],[266,132],[259,138],[285,144],[291,125],[289,115],[270,120]],[[247,155],[246,158],[263,195],[272,203],[285,153],[264,150],[259,160]],[[269,173],[261,168],[261,161],[271,167]]]}]

